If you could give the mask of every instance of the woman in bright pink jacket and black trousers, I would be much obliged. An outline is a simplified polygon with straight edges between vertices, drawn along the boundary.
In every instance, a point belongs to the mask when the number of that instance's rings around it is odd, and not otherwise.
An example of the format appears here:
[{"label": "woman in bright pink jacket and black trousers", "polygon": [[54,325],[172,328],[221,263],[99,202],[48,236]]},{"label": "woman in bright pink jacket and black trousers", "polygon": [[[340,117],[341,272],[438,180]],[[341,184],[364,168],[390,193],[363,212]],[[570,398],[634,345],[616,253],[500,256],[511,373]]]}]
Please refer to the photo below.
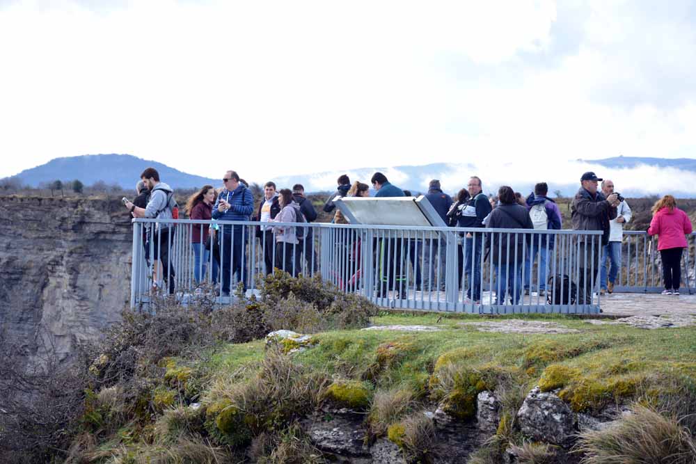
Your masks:
[{"label": "woman in bright pink jacket and black trousers", "polygon": [[681,253],[688,246],[686,234],[693,232],[691,221],[684,211],[677,208],[672,195],[665,195],[652,207],[649,235],[658,235],[657,249],[662,257],[665,282],[663,295],[679,295],[681,282]]}]

